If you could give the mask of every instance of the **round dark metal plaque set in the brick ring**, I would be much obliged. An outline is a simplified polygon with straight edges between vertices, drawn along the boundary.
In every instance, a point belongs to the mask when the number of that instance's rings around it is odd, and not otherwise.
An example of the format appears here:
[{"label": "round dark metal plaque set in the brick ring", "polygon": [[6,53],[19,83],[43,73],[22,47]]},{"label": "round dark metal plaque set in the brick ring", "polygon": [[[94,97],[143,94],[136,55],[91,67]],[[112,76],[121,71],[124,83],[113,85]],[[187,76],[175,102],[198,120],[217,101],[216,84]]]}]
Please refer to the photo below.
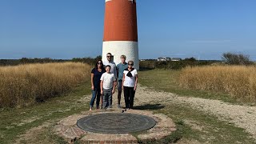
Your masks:
[{"label": "round dark metal plaque set in the brick ring", "polygon": [[103,134],[128,134],[149,130],[155,124],[154,118],[125,113],[94,114],[81,118],[77,122],[82,130]]}]

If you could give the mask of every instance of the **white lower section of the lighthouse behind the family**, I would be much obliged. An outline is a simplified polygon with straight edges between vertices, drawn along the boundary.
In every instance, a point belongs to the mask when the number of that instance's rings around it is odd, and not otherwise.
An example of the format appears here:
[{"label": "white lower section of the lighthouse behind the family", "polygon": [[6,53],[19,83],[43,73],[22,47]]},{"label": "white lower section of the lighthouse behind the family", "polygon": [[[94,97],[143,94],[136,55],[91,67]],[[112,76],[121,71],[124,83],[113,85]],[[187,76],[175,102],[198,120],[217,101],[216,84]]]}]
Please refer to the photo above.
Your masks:
[{"label": "white lower section of the lighthouse behind the family", "polygon": [[134,61],[134,68],[139,70],[138,66],[138,42],[132,41],[108,41],[103,42],[102,61],[106,61],[106,54],[114,55],[116,65],[121,62],[120,56],[126,55],[126,62]]}]

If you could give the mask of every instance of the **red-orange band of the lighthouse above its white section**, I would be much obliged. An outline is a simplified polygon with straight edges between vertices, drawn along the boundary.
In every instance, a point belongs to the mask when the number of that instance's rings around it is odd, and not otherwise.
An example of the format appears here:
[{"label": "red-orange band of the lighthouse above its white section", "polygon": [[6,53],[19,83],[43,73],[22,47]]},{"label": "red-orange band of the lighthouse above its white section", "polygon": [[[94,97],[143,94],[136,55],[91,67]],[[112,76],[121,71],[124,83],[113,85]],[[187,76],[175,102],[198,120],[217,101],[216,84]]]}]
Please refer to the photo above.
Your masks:
[{"label": "red-orange band of the lighthouse above its white section", "polygon": [[103,41],[138,42],[136,3],[129,0],[106,2]]}]

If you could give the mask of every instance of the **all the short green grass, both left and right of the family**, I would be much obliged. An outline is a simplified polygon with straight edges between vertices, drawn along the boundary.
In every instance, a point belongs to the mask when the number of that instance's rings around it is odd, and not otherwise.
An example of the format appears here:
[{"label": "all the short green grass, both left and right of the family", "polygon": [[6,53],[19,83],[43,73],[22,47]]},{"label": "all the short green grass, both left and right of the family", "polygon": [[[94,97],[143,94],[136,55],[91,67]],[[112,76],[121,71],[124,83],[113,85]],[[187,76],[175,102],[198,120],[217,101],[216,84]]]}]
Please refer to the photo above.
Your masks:
[{"label": "all the short green grass, both left and right of the family", "polygon": [[[90,72],[90,71],[89,71]],[[186,90],[178,86],[180,71],[141,70],[138,72],[139,83],[150,89],[172,92],[182,96],[221,99],[236,102],[227,94],[212,93],[201,90]],[[154,77],[152,77],[154,75]],[[85,96],[89,94],[89,96]],[[88,110],[90,102],[90,77],[68,94],[46,99],[30,107],[0,109],[0,143],[66,143],[52,133],[52,127],[62,118]],[[219,121],[210,114],[193,110],[189,105],[178,105],[173,102],[162,104],[161,99],[141,110],[152,110],[154,113],[166,114],[174,120],[178,131],[158,143],[254,143],[241,128]],[[33,135],[26,134],[32,130]],[[155,142],[153,142],[155,143]]]}]

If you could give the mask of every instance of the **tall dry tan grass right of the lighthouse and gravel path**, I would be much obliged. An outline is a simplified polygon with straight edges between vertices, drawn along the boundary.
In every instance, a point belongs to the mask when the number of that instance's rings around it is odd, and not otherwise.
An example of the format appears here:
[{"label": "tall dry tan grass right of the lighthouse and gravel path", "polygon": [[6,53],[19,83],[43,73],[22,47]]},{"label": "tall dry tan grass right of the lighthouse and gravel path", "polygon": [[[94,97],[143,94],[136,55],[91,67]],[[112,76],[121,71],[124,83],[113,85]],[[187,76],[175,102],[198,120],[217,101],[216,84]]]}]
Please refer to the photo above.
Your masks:
[{"label": "tall dry tan grass right of the lighthouse and gravel path", "polygon": [[186,67],[179,84],[195,90],[214,90],[247,101],[256,100],[255,66],[195,66]]}]

